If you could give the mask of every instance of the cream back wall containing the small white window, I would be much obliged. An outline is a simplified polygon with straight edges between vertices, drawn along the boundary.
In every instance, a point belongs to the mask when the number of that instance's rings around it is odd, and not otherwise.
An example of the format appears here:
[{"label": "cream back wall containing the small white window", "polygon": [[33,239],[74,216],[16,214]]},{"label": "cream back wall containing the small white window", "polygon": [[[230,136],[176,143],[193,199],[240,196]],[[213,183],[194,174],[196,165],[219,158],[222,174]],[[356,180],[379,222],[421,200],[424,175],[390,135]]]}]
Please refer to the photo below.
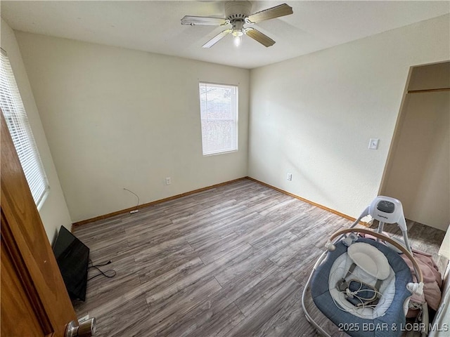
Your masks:
[{"label": "cream back wall containing the small white window", "polygon": [[[248,70],[16,36],[74,222],[247,175]],[[203,157],[199,81],[238,84],[238,152]]]}]

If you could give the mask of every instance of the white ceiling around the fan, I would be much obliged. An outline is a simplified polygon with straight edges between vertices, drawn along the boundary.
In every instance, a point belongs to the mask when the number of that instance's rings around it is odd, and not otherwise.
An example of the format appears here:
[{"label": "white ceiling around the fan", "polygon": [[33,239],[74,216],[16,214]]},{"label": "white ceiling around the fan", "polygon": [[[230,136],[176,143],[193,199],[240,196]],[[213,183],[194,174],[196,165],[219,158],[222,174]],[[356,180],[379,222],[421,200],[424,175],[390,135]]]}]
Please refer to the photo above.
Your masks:
[{"label": "white ceiling around the fan", "polygon": [[287,3],[293,15],[255,25],[276,41],[229,35],[202,48],[223,27],[181,25],[184,15],[224,17],[224,1],[1,1],[13,29],[255,68],[450,12],[450,1],[252,1],[252,13]]}]

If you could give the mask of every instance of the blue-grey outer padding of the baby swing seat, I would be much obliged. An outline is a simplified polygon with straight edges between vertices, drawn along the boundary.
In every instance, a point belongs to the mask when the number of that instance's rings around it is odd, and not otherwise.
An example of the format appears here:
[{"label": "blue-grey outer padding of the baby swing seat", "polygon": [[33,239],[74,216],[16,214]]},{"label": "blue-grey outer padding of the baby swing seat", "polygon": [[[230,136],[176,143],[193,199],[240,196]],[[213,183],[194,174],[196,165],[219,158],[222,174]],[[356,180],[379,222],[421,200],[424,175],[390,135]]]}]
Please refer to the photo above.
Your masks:
[{"label": "blue-grey outer padding of the baby swing seat", "polygon": [[381,251],[395,273],[395,294],[385,315],[376,317],[375,319],[357,317],[352,315],[351,312],[338,308],[330,295],[328,279],[330,277],[331,267],[337,258],[347,253],[347,249],[349,248],[342,243],[342,240],[335,244],[336,249],[328,252],[326,259],[314,272],[311,280],[311,296],[314,303],[337,326],[353,326],[355,329],[352,329],[352,331],[345,331],[349,336],[401,336],[401,327],[406,323],[404,302],[406,298],[411,296],[411,293],[406,289],[406,284],[412,282],[411,271],[399,254],[384,244],[376,242],[373,239],[364,238],[359,238],[357,242],[371,244],[371,246]]}]

